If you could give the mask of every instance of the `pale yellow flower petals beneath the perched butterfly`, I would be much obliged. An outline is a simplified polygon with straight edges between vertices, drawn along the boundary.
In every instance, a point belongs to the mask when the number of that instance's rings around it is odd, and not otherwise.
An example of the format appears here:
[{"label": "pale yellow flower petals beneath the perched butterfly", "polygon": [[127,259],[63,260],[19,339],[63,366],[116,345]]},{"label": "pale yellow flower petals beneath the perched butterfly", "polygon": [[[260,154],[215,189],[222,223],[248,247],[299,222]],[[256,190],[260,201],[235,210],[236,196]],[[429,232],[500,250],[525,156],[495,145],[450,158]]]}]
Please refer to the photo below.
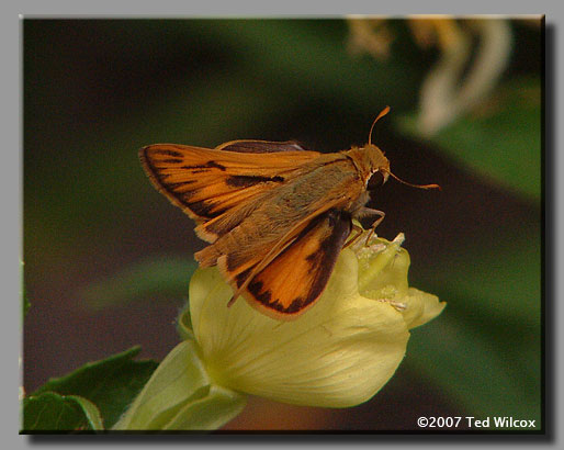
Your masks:
[{"label": "pale yellow flower petals beneath the perched butterfly", "polygon": [[409,329],[444,307],[408,286],[402,241],[403,235],[374,238],[342,250],[325,293],[293,322],[267,317],[242,299],[227,308],[233,291],[217,269],[198,270],[190,316],[211,379],[296,405],[348,407],[371,398],[404,358]]}]

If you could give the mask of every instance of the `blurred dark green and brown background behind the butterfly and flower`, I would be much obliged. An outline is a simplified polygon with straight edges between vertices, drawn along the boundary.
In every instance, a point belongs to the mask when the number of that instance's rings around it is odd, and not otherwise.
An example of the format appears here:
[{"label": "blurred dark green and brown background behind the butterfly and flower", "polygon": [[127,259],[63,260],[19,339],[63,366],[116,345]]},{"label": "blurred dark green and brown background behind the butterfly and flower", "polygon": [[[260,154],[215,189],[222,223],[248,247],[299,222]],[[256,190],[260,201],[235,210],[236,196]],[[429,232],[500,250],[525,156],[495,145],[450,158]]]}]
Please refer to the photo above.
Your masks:
[{"label": "blurred dark green and brown background behind the butterfly and flower", "polygon": [[373,142],[377,234],[448,302],[370,402],[251,398],[225,429],[417,429],[419,416],[541,418],[543,23],[519,20],[24,20],[24,387],[178,342],[193,223],[149,183],[153,143]]}]

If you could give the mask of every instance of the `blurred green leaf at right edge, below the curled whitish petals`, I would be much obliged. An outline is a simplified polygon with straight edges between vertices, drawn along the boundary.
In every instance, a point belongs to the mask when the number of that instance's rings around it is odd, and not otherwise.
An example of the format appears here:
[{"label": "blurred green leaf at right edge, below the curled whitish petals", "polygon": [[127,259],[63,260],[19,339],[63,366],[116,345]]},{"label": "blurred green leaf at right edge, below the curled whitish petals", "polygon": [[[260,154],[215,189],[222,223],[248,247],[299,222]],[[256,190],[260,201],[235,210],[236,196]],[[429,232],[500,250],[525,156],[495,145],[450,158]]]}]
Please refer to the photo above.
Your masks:
[{"label": "blurred green leaf at right edge, below the curled whitish petals", "polygon": [[[447,155],[527,199],[541,195],[541,86],[519,78],[489,103],[430,137]],[[422,138],[415,115],[401,117],[405,133]]]}]

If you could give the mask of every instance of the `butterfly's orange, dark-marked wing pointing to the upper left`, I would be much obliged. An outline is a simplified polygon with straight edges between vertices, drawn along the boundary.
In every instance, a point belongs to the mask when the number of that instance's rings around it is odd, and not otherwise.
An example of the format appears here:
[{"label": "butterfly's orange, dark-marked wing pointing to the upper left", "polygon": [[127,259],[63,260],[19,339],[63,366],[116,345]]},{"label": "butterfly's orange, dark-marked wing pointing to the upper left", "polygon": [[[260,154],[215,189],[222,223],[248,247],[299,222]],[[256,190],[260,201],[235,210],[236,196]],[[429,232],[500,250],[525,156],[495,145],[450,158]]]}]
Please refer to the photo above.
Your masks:
[{"label": "butterfly's orange, dark-marked wing pointing to the upper left", "polygon": [[253,202],[319,156],[292,142],[264,140],[234,140],[215,149],[156,144],[139,150],[154,185],[200,224],[196,234],[208,243],[237,226]]}]

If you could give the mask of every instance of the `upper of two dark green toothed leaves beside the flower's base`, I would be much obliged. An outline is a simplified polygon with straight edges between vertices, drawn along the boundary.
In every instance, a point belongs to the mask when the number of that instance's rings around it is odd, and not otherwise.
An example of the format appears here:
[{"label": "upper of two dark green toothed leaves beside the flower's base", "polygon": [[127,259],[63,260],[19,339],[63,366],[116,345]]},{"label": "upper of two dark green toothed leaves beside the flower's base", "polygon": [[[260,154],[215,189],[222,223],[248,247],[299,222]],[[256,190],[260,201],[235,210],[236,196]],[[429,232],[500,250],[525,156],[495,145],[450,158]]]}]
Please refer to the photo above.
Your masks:
[{"label": "upper of two dark green toothed leaves beside the flower's base", "polygon": [[32,395],[47,392],[78,395],[99,408],[106,428],[111,428],[132,403],[158,365],[155,361],[134,361],[138,347],[101,361],[82,365],[59,379],[49,380]]}]

